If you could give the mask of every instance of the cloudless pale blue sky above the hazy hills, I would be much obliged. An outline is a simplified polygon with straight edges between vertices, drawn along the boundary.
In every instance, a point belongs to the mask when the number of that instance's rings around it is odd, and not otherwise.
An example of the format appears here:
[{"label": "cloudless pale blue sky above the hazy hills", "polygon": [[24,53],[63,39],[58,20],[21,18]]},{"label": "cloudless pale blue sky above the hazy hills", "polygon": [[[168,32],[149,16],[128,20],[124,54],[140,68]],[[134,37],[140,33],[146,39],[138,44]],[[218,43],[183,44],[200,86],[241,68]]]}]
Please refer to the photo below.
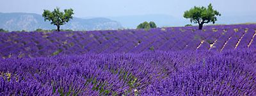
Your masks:
[{"label": "cloudless pale blue sky above the hazy hills", "polygon": [[255,15],[256,0],[0,0],[0,12],[42,14],[44,9],[73,8],[75,17],[172,15],[182,17],[193,6],[212,6],[222,15]]}]

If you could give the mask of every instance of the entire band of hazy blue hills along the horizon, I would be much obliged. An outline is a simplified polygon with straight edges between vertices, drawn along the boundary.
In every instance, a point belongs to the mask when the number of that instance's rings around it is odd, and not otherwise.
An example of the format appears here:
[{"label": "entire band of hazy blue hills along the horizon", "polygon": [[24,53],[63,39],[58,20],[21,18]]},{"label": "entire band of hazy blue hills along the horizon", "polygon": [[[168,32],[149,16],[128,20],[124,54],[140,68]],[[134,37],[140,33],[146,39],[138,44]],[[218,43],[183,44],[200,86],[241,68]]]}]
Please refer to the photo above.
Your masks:
[{"label": "entire band of hazy blue hills along the horizon", "polygon": [[[216,24],[241,24],[256,22],[255,15],[222,15],[218,17]],[[70,20],[61,26],[61,29],[72,30],[105,30],[136,28],[141,22],[154,21],[157,27],[185,26],[191,24],[189,19],[173,17],[172,15],[130,15],[120,17],[83,17]],[[211,23],[210,23],[211,24]],[[196,24],[193,24],[196,25]],[[206,25],[206,24],[205,24]],[[50,22],[45,22],[42,15],[35,13],[0,13],[0,28],[9,31],[35,29],[56,29]]]}]

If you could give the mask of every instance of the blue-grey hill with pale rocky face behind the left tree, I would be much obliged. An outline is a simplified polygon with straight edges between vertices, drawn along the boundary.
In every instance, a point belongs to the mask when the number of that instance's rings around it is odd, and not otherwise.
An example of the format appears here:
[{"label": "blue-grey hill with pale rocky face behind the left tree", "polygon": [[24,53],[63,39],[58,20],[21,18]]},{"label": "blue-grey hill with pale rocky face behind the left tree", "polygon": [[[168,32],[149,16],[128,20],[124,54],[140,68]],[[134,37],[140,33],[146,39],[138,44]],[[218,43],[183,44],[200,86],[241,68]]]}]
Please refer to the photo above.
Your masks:
[{"label": "blue-grey hill with pale rocky face behind the left tree", "polygon": [[[35,13],[0,13],[0,28],[9,31],[26,30],[34,31],[35,29],[56,29],[56,26],[45,22],[42,15]],[[118,29],[122,25],[115,20],[106,18],[81,19],[74,17],[70,22],[61,26],[61,29],[72,30],[98,30],[98,29]]]}]

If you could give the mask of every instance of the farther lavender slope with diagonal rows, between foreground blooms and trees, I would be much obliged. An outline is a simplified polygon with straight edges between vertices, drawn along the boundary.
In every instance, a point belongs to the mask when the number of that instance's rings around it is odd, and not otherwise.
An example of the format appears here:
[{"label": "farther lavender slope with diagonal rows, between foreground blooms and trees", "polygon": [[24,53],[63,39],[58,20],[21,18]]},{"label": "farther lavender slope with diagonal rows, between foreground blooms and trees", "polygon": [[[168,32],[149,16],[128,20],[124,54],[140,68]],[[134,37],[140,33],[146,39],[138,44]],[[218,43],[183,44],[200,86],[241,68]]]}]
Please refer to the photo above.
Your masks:
[{"label": "farther lavender slope with diagonal rows, between foreground blooms and trees", "polygon": [[156,28],[145,31],[0,33],[1,58],[56,54],[195,51],[256,47],[256,25]]}]

